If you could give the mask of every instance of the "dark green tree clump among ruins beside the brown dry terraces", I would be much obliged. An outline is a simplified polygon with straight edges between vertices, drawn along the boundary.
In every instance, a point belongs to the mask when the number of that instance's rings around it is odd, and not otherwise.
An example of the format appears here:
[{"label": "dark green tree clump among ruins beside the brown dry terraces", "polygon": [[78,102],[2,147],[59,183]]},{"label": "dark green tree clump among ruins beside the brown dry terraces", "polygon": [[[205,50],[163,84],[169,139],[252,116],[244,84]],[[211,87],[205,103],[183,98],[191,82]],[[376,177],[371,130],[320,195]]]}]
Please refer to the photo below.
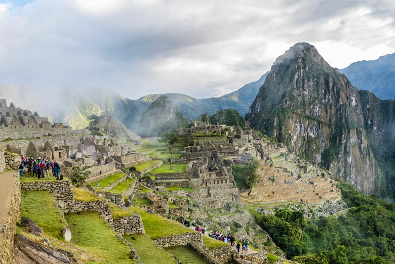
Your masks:
[{"label": "dark green tree clump among ruins beside the brown dry terraces", "polygon": [[246,166],[232,166],[233,175],[235,176],[235,181],[239,190],[251,190],[255,186],[258,168],[259,162],[254,159],[249,160]]}]

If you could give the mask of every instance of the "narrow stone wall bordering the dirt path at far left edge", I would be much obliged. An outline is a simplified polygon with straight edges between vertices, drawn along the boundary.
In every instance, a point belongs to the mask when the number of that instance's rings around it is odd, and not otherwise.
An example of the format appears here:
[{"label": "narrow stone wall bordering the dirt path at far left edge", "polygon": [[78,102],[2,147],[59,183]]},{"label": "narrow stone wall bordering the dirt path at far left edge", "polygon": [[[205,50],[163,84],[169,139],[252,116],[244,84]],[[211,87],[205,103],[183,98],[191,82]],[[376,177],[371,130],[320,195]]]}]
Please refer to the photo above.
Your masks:
[{"label": "narrow stone wall bordering the dirt path at far left edge", "polygon": [[12,264],[14,262],[14,235],[16,234],[16,222],[19,220],[20,206],[21,189],[18,177],[8,207],[8,219],[4,225],[0,226],[0,264]]}]

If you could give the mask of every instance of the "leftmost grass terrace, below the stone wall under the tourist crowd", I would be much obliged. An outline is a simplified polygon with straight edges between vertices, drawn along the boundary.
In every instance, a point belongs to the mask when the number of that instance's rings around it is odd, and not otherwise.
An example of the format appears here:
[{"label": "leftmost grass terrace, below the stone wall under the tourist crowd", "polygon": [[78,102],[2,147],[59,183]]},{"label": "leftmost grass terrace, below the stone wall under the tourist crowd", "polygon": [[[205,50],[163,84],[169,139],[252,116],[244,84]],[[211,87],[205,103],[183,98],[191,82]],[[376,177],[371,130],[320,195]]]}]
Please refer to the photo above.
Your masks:
[{"label": "leftmost grass terrace, below the stone wall under the tourist crowd", "polygon": [[64,241],[62,229],[67,224],[55,205],[55,198],[48,191],[21,190],[20,217],[30,218],[45,234]]}]

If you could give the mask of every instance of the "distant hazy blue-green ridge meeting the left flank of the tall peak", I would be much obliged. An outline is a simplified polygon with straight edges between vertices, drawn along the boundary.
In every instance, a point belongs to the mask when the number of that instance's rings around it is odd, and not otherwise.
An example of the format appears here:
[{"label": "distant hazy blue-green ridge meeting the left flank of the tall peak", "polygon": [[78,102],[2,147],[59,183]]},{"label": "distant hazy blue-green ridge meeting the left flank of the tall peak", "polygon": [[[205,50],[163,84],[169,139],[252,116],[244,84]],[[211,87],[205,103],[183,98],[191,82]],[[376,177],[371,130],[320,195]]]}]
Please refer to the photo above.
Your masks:
[{"label": "distant hazy blue-green ridge meeting the left flank of the tall peak", "polygon": [[197,99],[180,93],[164,93],[149,94],[138,100],[142,102],[153,102],[159,96],[165,95],[185,117],[191,120],[196,120],[202,113],[212,115],[216,111],[227,108],[235,109],[244,116],[267,75],[268,73],[265,73],[258,81],[246,84],[242,88],[220,97]]}]

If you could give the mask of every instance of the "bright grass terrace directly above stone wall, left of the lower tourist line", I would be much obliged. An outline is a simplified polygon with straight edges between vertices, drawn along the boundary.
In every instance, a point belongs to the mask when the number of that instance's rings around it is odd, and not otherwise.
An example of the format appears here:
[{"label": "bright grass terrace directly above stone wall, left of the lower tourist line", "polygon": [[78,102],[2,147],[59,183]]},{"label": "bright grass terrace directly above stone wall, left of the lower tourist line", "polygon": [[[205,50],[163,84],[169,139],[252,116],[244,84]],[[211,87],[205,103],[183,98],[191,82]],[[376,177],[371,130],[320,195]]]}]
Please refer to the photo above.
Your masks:
[{"label": "bright grass terrace directly above stone wall, left of the lower tourist line", "polygon": [[145,232],[153,240],[163,236],[174,236],[192,231],[177,221],[149,214],[144,209],[131,207],[129,210],[141,216]]}]

